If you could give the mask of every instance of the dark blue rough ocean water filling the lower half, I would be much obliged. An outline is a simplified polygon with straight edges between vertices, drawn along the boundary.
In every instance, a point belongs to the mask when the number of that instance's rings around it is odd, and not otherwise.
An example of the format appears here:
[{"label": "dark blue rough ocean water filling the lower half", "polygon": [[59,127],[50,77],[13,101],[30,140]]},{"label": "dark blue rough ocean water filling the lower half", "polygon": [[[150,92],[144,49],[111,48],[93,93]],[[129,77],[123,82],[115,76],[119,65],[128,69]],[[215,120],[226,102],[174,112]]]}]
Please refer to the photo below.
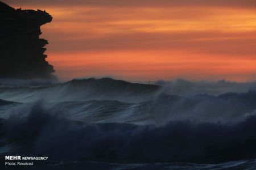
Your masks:
[{"label": "dark blue rough ocean water filling the lower half", "polygon": [[17,84],[0,87],[3,168],[18,168],[5,155],[21,155],[49,156],[30,169],[256,169],[249,88],[177,95],[108,78]]}]

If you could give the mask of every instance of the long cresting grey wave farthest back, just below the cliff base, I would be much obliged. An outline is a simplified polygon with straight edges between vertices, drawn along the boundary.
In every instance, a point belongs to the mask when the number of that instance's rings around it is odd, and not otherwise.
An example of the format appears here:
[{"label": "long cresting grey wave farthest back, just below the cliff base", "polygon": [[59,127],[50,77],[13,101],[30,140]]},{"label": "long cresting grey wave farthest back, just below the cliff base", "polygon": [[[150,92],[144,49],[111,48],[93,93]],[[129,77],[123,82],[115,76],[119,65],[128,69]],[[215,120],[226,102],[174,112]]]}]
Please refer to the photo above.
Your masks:
[{"label": "long cresting grey wave farthest back, just below the cliff base", "polygon": [[44,99],[51,103],[61,101],[118,100],[140,103],[152,99],[159,86],[129,83],[110,78],[71,80],[50,87],[2,87],[0,99],[33,102]]}]

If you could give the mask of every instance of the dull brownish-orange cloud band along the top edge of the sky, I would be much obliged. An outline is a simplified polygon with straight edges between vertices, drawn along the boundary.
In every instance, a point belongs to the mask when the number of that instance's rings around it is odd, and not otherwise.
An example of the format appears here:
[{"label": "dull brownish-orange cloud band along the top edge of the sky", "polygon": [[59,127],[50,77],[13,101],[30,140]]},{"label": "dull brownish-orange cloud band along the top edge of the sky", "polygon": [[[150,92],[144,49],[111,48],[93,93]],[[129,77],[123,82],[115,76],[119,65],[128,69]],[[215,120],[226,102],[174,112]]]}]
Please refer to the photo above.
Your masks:
[{"label": "dull brownish-orange cloud band along the top edge of the sky", "polygon": [[8,0],[4,1],[16,5],[32,6],[105,6],[105,7],[169,7],[169,6],[217,6],[217,7],[249,7],[255,8],[254,0]]}]

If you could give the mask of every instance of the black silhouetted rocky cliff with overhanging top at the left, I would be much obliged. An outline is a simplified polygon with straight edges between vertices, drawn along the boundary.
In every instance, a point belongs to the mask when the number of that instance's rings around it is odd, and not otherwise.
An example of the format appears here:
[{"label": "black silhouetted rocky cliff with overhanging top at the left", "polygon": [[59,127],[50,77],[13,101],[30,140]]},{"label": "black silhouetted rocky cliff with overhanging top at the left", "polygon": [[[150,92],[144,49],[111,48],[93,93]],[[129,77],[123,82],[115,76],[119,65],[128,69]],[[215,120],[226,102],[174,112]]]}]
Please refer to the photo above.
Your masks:
[{"label": "black silhouetted rocky cliff with overhanging top at the left", "polygon": [[46,11],[15,10],[0,2],[0,78],[54,78],[44,54],[48,41],[39,39],[40,26],[51,20]]}]

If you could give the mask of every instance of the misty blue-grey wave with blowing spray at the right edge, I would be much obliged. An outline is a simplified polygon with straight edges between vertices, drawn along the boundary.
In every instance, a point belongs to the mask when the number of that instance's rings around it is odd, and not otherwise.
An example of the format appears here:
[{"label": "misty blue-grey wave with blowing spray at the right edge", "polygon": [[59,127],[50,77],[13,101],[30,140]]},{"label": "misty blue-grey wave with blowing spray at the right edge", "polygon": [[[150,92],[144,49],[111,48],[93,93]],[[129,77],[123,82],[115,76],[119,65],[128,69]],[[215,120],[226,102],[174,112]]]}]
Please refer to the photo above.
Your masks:
[{"label": "misty blue-grey wave with blowing spray at the right edge", "polygon": [[152,117],[157,124],[170,120],[195,122],[242,121],[256,113],[256,92],[226,93],[219,96],[173,96],[160,94],[152,103]]}]

